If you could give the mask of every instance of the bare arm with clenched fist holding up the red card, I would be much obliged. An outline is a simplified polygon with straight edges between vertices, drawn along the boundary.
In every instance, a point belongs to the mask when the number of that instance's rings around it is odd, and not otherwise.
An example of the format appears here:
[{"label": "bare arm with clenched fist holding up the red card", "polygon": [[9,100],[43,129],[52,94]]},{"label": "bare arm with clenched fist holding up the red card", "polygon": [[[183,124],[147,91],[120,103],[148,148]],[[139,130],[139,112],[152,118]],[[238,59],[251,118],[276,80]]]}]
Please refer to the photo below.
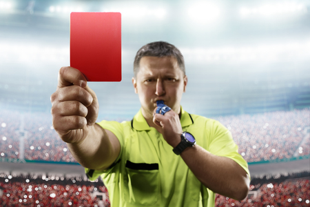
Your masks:
[{"label": "bare arm with clenched fist holding up the red card", "polygon": [[61,68],[50,99],[53,127],[74,159],[85,168],[109,167],[120,152],[120,144],[112,132],[95,123],[99,103],[83,74],[75,68]]}]

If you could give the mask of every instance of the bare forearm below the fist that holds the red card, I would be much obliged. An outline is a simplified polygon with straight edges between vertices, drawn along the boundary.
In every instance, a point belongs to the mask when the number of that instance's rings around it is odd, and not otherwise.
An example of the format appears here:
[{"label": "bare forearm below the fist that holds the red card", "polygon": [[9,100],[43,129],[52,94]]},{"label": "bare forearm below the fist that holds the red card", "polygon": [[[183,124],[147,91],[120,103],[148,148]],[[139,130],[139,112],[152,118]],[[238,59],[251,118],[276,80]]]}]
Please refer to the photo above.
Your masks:
[{"label": "bare forearm below the fist that holds the red card", "polygon": [[85,168],[107,168],[117,157],[107,133],[98,124],[92,126],[83,141],[67,145],[74,159]]}]

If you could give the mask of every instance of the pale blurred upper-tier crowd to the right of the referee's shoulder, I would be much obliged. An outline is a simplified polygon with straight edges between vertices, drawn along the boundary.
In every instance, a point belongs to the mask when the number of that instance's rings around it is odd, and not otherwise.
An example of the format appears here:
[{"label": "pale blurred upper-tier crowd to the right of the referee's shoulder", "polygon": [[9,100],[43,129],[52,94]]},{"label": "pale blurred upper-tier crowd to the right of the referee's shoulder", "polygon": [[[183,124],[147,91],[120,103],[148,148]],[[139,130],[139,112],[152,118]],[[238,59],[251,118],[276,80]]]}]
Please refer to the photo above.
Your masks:
[{"label": "pale blurred upper-tier crowd to the right of the referee's shoulder", "polygon": [[298,149],[305,149],[299,150],[298,156],[309,155],[309,147],[300,146],[305,137],[309,139],[309,117],[310,110],[306,108],[216,119],[231,131],[245,160],[257,162],[289,159]]}]

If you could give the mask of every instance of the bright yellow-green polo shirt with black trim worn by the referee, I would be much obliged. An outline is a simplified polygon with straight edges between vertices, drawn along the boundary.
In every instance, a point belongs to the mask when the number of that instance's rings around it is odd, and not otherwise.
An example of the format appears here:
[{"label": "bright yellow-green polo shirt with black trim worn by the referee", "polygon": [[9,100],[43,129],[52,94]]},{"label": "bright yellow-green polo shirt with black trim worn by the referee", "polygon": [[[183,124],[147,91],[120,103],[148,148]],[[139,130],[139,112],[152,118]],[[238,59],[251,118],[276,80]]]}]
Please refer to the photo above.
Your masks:
[{"label": "bright yellow-green polo shirt with black trim worn by the referee", "polygon": [[[196,144],[233,159],[249,175],[247,162],[238,154],[227,128],[214,119],[189,115],[183,108],[181,114],[183,131],[194,135]],[[101,121],[99,125],[116,135],[121,152],[108,170],[85,168],[85,172],[90,180],[102,177],[112,207],[214,206],[215,193],[200,183],[163,135],[149,127],[141,110],[132,121]]]}]

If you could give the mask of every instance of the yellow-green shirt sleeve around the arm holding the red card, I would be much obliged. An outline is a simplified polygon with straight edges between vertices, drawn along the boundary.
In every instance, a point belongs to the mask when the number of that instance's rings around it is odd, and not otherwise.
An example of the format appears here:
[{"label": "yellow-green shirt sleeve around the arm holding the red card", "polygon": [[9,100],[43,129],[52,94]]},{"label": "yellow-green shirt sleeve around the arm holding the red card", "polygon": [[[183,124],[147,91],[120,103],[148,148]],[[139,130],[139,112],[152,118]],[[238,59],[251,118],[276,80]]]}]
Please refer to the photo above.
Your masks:
[{"label": "yellow-green shirt sleeve around the arm holding the red card", "polygon": [[102,175],[105,172],[110,171],[115,166],[115,164],[118,163],[121,157],[121,154],[123,152],[123,146],[124,146],[123,126],[121,123],[117,121],[105,121],[104,120],[104,121],[99,122],[98,124],[102,128],[106,130],[110,130],[117,137],[119,143],[121,144],[121,152],[119,153],[116,161],[114,161],[114,164],[112,164],[110,168],[107,168],[106,170],[92,170],[89,168],[85,168],[85,173],[88,179],[90,179],[90,181],[95,181],[100,175]]}]

